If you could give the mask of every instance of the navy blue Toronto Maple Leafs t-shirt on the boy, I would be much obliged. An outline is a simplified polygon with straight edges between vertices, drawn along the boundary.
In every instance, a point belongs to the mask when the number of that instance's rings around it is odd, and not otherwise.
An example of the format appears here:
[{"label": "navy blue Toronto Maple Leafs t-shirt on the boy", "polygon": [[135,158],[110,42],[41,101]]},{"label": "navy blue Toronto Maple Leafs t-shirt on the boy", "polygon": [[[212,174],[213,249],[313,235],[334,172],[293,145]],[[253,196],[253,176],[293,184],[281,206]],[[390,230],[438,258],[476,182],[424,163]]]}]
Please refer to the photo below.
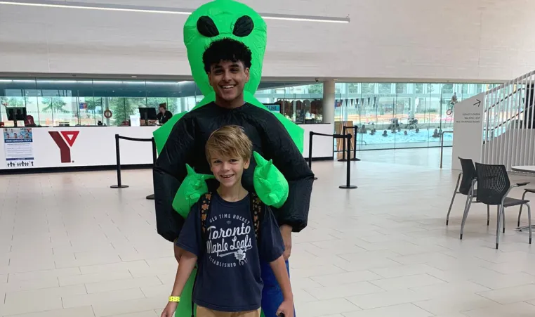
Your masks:
[{"label": "navy blue Toronto Maple Leafs t-shirt on the boy", "polygon": [[227,202],[213,193],[204,245],[199,207],[199,202],[192,207],[176,242],[199,258],[193,301],[216,311],[259,309],[263,287],[260,258],[272,262],[284,252],[282,235],[271,209],[266,206],[261,215],[257,245],[250,195],[239,202]]}]

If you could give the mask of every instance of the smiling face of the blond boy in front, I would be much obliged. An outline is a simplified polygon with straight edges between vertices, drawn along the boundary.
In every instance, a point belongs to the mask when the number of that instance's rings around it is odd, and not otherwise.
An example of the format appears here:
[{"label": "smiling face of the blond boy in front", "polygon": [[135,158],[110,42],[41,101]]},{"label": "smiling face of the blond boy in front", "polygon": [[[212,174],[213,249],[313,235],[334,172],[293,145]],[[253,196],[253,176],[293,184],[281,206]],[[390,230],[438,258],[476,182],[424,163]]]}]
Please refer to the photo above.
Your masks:
[{"label": "smiling face of the blond boy in front", "polygon": [[232,188],[242,182],[244,169],[249,168],[249,160],[242,157],[225,157],[220,153],[210,153],[210,169],[221,186]]}]

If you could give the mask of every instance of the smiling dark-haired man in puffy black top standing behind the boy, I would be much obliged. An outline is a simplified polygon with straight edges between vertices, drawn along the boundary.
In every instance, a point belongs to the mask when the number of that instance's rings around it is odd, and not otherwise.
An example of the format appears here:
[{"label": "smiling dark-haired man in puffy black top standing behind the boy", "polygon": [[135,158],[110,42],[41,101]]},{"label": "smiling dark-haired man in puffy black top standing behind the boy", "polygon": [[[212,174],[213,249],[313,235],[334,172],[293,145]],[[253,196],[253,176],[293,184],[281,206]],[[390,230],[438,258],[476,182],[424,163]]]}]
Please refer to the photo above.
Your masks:
[{"label": "smiling dark-haired man in puffy black top standing behind the boy", "polygon": [[[253,142],[253,150],[266,160],[273,160],[288,181],[286,203],[273,209],[284,240],[284,259],[287,260],[291,254],[291,233],[300,232],[307,226],[314,174],[281,122],[272,113],[244,101],[251,58],[250,49],[232,39],[213,41],[204,51],[204,69],[216,93],[216,101],[188,112],[175,124],[154,165],[158,233],[171,242],[178,238],[185,219],[173,210],[172,202],[187,174],[185,164],[190,164],[197,173],[209,174],[206,140],[214,130],[235,124],[243,127]],[[256,163],[251,162],[251,168],[244,171],[242,179],[244,188],[251,192],[255,166]],[[209,190],[216,190],[217,182],[207,183]],[[178,260],[181,250],[176,245],[174,248]],[[261,261],[260,266],[264,283],[262,308],[266,316],[272,317],[283,296],[270,265]]]}]

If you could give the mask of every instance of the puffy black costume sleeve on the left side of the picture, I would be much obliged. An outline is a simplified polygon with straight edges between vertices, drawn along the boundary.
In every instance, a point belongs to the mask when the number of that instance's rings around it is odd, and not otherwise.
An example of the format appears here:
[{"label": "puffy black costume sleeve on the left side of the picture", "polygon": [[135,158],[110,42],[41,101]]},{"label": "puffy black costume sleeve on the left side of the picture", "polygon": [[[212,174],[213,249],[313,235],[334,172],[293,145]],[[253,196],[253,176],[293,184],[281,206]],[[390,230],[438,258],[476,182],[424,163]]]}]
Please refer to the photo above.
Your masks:
[{"label": "puffy black costume sleeve on the left side of the picture", "polygon": [[173,242],[185,219],[173,209],[173,199],[187,175],[194,146],[194,124],[189,116],[176,122],[152,169],[158,234]]}]

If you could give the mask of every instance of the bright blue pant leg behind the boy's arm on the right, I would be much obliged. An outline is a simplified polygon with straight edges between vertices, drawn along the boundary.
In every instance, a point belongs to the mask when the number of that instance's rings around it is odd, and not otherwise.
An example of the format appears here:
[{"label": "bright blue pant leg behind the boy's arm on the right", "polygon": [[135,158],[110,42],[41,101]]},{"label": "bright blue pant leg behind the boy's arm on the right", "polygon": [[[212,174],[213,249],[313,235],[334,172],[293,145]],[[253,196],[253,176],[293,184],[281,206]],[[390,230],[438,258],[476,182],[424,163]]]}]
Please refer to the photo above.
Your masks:
[{"label": "bright blue pant leg behind the boy's arm on the right", "polygon": [[[262,290],[262,310],[265,317],[277,317],[277,309],[282,304],[282,290],[275,278],[275,274],[271,269],[268,262],[261,261],[260,269],[262,270],[262,280],[264,282],[264,288]],[[288,276],[290,276],[290,266],[286,261],[286,270],[288,270]],[[293,316],[296,316],[295,309]]]}]

